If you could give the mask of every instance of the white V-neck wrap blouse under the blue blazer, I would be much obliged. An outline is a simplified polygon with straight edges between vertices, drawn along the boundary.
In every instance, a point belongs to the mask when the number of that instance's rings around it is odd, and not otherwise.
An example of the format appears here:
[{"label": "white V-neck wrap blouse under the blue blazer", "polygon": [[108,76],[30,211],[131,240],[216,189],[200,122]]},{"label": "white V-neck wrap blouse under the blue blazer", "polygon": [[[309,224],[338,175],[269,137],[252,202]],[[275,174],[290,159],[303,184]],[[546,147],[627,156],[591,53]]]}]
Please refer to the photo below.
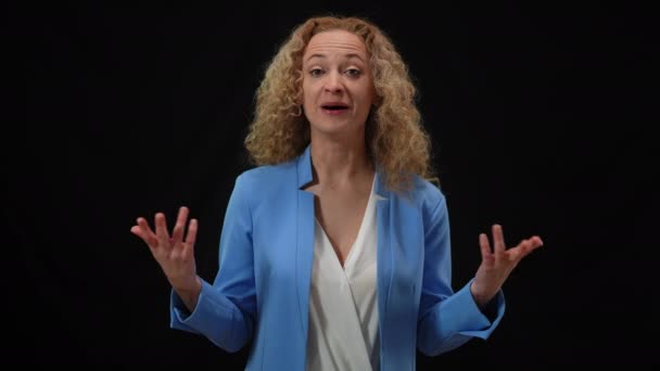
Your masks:
[{"label": "white V-neck wrap blouse under the blue blazer", "polygon": [[377,228],[373,193],[342,268],[316,220],[309,292],[307,370],[378,370]]}]

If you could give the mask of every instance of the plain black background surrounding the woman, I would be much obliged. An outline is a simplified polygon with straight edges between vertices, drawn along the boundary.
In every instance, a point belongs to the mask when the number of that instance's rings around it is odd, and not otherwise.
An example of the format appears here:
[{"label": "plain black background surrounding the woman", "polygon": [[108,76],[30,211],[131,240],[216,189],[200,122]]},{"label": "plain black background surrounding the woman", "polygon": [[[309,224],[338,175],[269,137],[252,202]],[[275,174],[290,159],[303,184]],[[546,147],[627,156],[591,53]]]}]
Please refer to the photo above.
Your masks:
[{"label": "plain black background surrounding the woman", "polygon": [[[493,222],[545,246],[505,283],[492,337],[420,369],[658,363],[658,196],[648,9],[606,2],[389,5],[24,3],[3,125],[5,353],[35,364],[240,370],[168,328],[169,286],[129,229],[200,220],[213,280],[253,94],[307,16],[366,16],[408,62],[452,221],[454,285]],[[533,4],[532,4],[533,3]],[[7,102],[7,101],[5,101]],[[7,117],[12,117],[8,115]],[[9,253],[9,254],[7,254]]]}]

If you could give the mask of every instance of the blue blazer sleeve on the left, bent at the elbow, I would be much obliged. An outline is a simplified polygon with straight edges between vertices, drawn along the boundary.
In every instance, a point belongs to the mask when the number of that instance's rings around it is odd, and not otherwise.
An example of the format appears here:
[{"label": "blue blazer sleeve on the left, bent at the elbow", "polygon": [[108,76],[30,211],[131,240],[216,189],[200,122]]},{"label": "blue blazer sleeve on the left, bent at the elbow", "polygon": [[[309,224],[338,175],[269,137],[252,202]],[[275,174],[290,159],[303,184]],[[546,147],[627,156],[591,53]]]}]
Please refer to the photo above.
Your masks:
[{"label": "blue blazer sleeve on the left, bent at the elbow", "polygon": [[249,188],[243,176],[239,176],[225,214],[219,269],[213,285],[202,280],[202,292],[192,312],[188,312],[174,290],[170,295],[170,327],[202,334],[227,351],[238,351],[250,342],[255,322]]}]

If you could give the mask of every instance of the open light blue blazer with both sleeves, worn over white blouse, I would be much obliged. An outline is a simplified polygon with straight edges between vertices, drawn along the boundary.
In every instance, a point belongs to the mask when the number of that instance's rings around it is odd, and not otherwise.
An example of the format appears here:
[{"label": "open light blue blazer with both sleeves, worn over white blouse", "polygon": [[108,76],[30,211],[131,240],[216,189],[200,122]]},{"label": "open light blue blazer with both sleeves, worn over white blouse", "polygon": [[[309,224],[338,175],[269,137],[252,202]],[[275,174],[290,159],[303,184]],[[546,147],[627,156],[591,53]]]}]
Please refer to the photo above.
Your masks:
[{"label": "open light blue blazer with both sleeves, worn over white blouse", "polygon": [[[309,145],[288,163],[241,174],[224,219],[219,269],[202,282],[188,312],[172,292],[170,325],[206,336],[227,351],[253,341],[248,370],[305,370],[314,194]],[[449,219],[442,192],[416,178],[406,194],[377,172],[377,295],[381,370],[415,370],[416,349],[434,356],[477,336],[487,338],[505,309],[494,298],[490,321],[468,282],[454,292]],[[475,247],[478,248],[478,247]]]}]

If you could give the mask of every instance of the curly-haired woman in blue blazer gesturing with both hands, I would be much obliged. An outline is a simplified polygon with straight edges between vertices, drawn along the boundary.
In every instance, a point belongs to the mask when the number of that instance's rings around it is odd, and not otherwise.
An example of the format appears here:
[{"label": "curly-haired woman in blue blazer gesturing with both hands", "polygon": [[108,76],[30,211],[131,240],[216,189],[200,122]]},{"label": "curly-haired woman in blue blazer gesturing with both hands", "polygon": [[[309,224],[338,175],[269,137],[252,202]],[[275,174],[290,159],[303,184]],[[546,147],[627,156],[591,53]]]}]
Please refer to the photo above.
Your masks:
[{"label": "curly-haired woman in blue blazer gesturing with both hands", "polygon": [[[453,291],[449,222],[427,179],[430,143],[415,88],[392,42],[359,18],[315,17],[276,54],[245,144],[258,165],[236,181],[213,284],[195,272],[198,223],[172,236],[138,218],[172,292],[172,327],[236,351],[246,369],[414,370],[486,338],[504,315],[502,285],[542,245],[494,248]],[[185,233],[188,223],[188,232]],[[186,234],[186,235],[185,235]]]}]

